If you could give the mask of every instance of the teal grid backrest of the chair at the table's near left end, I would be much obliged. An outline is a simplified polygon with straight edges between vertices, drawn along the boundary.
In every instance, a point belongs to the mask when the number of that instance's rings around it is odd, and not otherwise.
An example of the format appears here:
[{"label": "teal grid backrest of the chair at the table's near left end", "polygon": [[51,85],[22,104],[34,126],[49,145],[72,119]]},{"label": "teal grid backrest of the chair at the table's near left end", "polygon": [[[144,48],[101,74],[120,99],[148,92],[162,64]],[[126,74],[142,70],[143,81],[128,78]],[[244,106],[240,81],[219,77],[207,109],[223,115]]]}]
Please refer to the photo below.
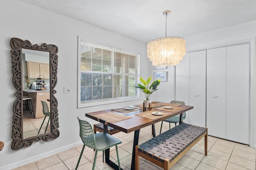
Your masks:
[{"label": "teal grid backrest of the chair at the table's near left end", "polygon": [[92,126],[87,121],[81,120],[77,117],[80,125],[80,138],[82,142],[89,148],[95,148],[95,136],[92,130]]}]

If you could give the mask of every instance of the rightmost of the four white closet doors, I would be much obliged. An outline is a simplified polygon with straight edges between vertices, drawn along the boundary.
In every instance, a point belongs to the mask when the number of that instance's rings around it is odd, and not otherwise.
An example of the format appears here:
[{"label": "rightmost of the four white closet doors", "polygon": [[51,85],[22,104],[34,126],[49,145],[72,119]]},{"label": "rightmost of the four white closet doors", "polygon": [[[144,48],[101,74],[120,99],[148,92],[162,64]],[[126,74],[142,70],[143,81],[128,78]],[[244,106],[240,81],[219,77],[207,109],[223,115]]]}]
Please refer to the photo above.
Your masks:
[{"label": "rightmost of the four white closet doors", "polygon": [[226,138],[249,144],[250,44],[227,47]]}]

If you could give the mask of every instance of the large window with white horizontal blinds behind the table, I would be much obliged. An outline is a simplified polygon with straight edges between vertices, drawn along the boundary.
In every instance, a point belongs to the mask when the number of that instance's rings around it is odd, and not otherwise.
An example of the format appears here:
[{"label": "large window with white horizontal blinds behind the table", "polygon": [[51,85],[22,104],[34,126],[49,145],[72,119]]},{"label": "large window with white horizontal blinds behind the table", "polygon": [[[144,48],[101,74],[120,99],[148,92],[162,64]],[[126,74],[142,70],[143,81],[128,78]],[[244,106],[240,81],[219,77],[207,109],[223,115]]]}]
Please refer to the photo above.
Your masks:
[{"label": "large window with white horizontal blinds behind the table", "polygon": [[140,55],[79,40],[78,108],[138,98]]}]

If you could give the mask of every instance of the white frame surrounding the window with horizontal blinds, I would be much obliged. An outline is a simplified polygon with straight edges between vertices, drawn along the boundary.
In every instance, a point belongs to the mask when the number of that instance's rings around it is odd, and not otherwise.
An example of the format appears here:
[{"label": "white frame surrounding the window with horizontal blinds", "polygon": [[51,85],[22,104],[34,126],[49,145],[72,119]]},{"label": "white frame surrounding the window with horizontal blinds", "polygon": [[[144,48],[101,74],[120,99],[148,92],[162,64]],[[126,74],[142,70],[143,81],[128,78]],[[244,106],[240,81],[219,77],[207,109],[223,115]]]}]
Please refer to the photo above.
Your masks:
[{"label": "white frame surrounding the window with horizontal blinds", "polygon": [[[139,82],[139,78],[140,78],[140,54],[139,53],[134,53],[131,51],[126,51],[123,49],[118,49],[118,48],[114,48],[114,47],[110,47],[107,45],[102,45],[102,44],[98,44],[98,43],[93,43],[93,42],[89,42],[83,38],[79,38],[78,37],[78,90],[77,90],[77,100],[78,100],[78,108],[83,108],[83,107],[92,107],[92,106],[97,106],[97,105],[107,105],[107,104],[112,104],[112,103],[120,103],[120,102],[126,102],[126,101],[134,101],[134,100],[140,100],[140,93],[138,89],[135,89],[135,96],[133,97],[118,97],[118,98],[110,98],[110,99],[101,99],[101,100],[91,100],[91,101],[86,101],[86,102],[81,102],[81,41],[84,41],[86,43],[91,43],[92,45],[95,46],[100,46],[102,48],[106,48],[108,50],[111,50],[112,53],[115,52],[121,52],[121,53],[128,53],[128,54],[134,54],[137,55],[137,59],[136,59],[136,67],[137,67],[137,78],[135,80],[135,84],[138,84]],[[112,62],[112,61],[111,61]],[[92,71],[93,72],[93,71]],[[102,72],[104,73],[104,72]],[[108,74],[108,72],[106,72],[106,74]],[[109,74],[112,74],[112,72],[110,72]],[[117,73],[115,75],[128,75],[128,74],[124,74],[124,73]],[[112,82],[114,79],[114,74],[112,74]],[[124,81],[124,80],[122,80]],[[113,85],[112,85],[112,89],[113,89]]]}]

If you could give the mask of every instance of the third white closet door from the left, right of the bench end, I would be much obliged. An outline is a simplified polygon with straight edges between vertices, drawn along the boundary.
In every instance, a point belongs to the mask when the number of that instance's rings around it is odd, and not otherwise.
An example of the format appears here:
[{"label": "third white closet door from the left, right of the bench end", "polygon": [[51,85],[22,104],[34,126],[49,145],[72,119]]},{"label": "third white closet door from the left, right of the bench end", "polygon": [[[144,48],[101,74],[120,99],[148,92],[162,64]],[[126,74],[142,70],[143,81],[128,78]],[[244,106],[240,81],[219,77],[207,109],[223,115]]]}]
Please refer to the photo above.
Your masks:
[{"label": "third white closet door from the left, right of the bench end", "polygon": [[206,127],[226,138],[226,47],[206,51]]}]

